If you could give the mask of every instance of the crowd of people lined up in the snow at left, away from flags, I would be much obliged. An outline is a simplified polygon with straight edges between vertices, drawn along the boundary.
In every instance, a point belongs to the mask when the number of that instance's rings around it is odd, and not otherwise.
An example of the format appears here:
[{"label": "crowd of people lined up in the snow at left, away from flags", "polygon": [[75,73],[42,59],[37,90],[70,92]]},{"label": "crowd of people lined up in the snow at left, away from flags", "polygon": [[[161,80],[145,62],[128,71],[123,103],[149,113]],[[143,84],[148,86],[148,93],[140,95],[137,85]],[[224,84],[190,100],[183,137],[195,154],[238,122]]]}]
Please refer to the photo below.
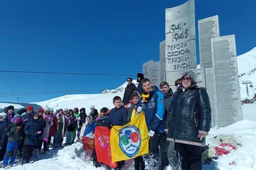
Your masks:
[{"label": "crowd of people lined up in the snow at left, away from flags", "polygon": [[[22,108],[14,113],[14,107],[4,108],[0,113],[0,162],[3,167],[12,167],[18,158],[21,164],[33,162],[32,155],[49,152],[53,138],[52,149],[72,145],[81,139],[81,129],[86,124],[86,118],[94,121],[98,117],[95,106],[90,107],[89,115],[85,108],[68,108],[54,110],[46,106],[36,112],[33,106]],[[75,139],[77,140],[75,141]]]}]

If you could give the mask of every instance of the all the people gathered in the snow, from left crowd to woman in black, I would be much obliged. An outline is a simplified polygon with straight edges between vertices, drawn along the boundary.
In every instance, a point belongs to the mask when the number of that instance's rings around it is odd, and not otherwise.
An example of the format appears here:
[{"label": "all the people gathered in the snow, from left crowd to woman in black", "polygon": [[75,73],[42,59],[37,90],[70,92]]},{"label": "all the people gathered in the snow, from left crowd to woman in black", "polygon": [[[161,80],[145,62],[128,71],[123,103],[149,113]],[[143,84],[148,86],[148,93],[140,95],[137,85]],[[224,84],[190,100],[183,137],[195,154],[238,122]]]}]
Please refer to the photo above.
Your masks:
[{"label": "all the people gathered in the snow, from left crowd to woman in black", "polygon": [[[3,160],[3,166],[7,166],[9,159],[10,166],[13,165],[17,150],[22,155],[22,163],[28,163],[43,143],[44,152],[49,150],[52,137],[53,149],[58,149],[64,137],[65,145],[71,145],[76,138],[82,141],[88,134],[94,137],[97,126],[111,129],[145,113],[149,152],[134,159],[134,169],[163,170],[170,165],[177,170],[179,158],[182,170],[202,169],[202,147],[211,127],[211,105],[206,89],[196,85],[196,74],[191,70],[184,71],[175,81],[174,93],[166,81],[157,87],[141,73],[138,73],[137,81],[136,87],[132,78],[127,78],[124,98],[115,96],[114,108],[104,107],[100,113],[94,106],[89,115],[84,108],[66,108],[53,113],[51,108],[45,107],[35,113],[33,107],[28,106],[24,113],[15,114],[13,106],[8,106],[6,113],[0,113],[0,160]],[[97,160],[95,147],[92,161],[95,167],[108,167]],[[116,163],[118,167],[115,169],[124,169],[124,160]]]}]

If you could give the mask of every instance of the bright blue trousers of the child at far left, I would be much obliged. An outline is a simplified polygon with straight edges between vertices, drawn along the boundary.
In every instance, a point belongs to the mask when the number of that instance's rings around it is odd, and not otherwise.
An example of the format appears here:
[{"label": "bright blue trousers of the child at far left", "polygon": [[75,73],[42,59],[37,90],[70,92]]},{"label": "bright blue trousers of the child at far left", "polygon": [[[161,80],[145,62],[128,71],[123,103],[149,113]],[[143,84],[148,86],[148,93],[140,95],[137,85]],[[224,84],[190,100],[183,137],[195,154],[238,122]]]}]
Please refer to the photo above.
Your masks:
[{"label": "bright blue trousers of the child at far left", "polygon": [[10,160],[10,165],[14,164],[18,146],[19,146],[19,142],[8,142],[6,153],[4,155],[3,166],[7,166],[9,160]]}]

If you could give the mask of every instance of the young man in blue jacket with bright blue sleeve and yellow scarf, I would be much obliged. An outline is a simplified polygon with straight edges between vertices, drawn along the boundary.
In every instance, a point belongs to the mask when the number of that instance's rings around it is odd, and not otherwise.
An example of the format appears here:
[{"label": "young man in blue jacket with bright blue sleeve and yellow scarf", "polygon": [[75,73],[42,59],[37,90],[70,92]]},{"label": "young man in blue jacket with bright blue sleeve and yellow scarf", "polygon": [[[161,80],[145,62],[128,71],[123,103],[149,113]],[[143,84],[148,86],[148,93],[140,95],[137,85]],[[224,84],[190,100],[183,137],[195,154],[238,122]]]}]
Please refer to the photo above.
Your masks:
[{"label": "young man in blue jacket with bright blue sleeve and yellow scarf", "polygon": [[141,80],[144,92],[141,94],[141,107],[145,111],[148,128],[149,153],[145,155],[145,169],[159,169],[159,143],[164,132],[164,96],[149,79]]}]

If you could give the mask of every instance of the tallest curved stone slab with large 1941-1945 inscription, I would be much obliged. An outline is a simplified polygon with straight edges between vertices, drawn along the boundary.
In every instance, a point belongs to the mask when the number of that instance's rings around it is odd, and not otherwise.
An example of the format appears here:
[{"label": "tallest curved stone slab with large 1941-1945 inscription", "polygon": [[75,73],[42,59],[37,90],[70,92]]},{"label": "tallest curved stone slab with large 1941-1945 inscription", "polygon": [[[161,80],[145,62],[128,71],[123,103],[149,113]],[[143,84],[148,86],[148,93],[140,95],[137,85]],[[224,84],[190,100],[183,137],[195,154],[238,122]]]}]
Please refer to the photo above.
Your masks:
[{"label": "tallest curved stone slab with large 1941-1945 inscription", "polygon": [[165,10],[166,81],[174,85],[182,70],[196,68],[195,0]]}]

